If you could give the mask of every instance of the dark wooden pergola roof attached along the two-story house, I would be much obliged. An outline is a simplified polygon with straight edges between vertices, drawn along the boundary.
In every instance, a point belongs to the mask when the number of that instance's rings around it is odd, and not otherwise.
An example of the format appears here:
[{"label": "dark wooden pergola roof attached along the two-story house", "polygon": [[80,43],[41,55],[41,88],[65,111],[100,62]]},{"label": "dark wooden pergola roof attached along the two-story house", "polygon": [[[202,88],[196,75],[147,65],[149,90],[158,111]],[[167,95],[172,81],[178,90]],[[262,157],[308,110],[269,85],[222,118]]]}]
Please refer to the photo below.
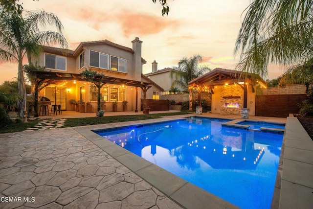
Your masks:
[{"label": "dark wooden pergola roof attached along the two-story house", "polygon": [[[57,84],[65,80],[76,80],[76,81],[87,81],[81,74],[77,73],[66,73],[66,72],[51,72],[51,71],[34,71],[32,72],[37,78],[45,80],[47,84]],[[134,87],[147,87],[152,85],[148,82],[135,81],[123,78],[115,78],[110,76],[102,76],[99,79],[100,81],[107,84],[116,84],[116,85],[127,85]]]}]

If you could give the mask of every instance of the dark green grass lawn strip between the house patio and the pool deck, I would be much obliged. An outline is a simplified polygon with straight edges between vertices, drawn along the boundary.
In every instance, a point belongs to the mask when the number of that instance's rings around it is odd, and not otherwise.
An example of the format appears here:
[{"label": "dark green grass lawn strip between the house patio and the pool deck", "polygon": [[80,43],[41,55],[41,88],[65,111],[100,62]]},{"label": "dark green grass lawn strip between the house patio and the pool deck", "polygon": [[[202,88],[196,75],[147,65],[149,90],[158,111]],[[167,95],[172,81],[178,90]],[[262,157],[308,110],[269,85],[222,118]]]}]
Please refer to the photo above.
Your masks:
[{"label": "dark green grass lawn strip between the house patio and the pool deck", "polygon": [[[62,128],[134,121],[134,120],[146,120],[146,119],[160,118],[162,116],[177,116],[177,115],[186,115],[186,114],[192,114],[192,112],[181,111],[181,112],[176,112],[176,113],[159,113],[159,114],[131,115],[131,116],[67,118]],[[7,126],[1,127],[0,133],[12,133],[12,132],[24,131],[27,128],[34,127],[39,121],[41,120],[28,120],[27,123],[11,123]]]}]

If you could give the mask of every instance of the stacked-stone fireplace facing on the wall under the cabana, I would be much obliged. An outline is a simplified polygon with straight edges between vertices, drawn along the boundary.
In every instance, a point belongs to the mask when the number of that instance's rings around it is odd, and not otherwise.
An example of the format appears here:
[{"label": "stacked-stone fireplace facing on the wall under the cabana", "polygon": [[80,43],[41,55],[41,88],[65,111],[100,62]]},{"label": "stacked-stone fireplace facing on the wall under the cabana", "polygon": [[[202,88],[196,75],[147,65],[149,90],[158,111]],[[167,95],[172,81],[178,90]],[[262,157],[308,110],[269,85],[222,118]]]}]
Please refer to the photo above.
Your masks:
[{"label": "stacked-stone fireplace facing on the wall under the cabana", "polygon": [[[223,98],[223,96],[240,96],[240,98]],[[239,108],[224,107],[224,103],[239,103]],[[244,90],[239,85],[228,85],[221,89],[221,114],[241,115],[241,108],[244,107]]]}]

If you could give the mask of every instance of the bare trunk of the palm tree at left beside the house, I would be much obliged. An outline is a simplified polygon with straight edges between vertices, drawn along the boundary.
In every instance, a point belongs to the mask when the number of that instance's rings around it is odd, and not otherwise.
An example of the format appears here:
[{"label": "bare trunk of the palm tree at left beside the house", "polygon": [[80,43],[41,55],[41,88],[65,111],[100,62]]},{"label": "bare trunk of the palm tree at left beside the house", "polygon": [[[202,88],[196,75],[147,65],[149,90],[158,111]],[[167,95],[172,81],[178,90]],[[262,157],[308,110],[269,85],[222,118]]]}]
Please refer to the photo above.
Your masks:
[{"label": "bare trunk of the palm tree at left beside the house", "polygon": [[21,100],[18,100],[18,117],[21,118],[22,122],[27,122],[27,111],[26,111],[26,87],[24,81],[24,72],[22,66],[22,56],[20,55],[19,66],[18,66],[18,88]]}]

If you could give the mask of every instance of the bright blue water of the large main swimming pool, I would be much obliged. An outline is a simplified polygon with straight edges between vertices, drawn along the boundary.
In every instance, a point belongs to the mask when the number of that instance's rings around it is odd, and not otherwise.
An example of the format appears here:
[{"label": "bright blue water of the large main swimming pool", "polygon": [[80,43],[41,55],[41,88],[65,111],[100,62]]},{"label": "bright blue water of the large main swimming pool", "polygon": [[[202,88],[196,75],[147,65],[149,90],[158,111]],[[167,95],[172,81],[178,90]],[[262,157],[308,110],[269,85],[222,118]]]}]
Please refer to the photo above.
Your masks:
[{"label": "bright blue water of the large main swimming pool", "polygon": [[243,209],[269,209],[282,134],[187,118],[95,131],[151,163]]}]

